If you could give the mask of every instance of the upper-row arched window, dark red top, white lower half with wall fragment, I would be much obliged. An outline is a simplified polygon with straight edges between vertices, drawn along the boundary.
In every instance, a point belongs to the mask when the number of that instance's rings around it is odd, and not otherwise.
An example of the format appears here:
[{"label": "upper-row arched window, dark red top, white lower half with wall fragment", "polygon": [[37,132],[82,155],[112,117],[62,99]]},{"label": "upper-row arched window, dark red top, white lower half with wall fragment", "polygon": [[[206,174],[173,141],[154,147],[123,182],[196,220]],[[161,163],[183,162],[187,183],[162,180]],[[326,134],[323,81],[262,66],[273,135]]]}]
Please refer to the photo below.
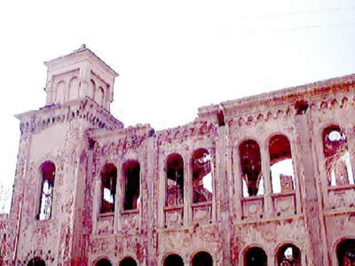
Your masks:
[{"label": "upper-row arched window, dark red top, white lower half with wall fragment", "polygon": [[283,135],[273,136],[269,143],[269,155],[272,192],[295,190],[295,173],[288,138]]}]

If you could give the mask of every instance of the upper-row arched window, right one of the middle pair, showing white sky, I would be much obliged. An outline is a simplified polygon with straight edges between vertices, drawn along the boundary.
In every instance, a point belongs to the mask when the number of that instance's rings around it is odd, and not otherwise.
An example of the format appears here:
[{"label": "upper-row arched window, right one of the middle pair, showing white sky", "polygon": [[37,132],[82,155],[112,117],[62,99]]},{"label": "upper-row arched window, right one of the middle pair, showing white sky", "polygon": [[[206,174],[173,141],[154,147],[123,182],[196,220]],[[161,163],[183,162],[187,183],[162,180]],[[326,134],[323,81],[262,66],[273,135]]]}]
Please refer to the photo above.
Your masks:
[{"label": "upper-row arched window, right one of the middle pair, showing white sky", "polygon": [[212,200],[210,160],[210,154],[206,149],[198,149],[193,153],[193,203]]}]

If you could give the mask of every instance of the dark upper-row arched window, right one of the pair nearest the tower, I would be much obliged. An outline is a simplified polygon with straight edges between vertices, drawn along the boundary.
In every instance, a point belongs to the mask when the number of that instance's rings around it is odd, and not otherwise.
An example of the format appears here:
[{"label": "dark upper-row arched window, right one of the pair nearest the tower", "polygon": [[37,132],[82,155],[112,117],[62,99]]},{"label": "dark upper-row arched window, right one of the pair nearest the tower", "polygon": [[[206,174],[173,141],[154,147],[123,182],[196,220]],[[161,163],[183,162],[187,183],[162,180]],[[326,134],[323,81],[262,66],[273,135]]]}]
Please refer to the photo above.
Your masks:
[{"label": "dark upper-row arched window, right one of the pair nearest the tower", "polygon": [[138,160],[128,160],[123,165],[124,198],[123,209],[137,209],[140,196],[140,166]]}]

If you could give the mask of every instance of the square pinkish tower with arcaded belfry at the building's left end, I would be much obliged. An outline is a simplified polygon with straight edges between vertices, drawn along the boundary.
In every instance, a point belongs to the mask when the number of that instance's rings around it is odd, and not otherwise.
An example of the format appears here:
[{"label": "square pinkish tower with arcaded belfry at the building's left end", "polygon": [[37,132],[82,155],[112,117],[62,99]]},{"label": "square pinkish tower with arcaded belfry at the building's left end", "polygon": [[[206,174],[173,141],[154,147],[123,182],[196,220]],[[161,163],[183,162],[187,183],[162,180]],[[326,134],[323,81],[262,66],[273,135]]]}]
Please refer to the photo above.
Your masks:
[{"label": "square pinkish tower with arcaded belfry at the building's left end", "polygon": [[[84,45],[44,63],[45,106],[20,113],[20,150],[6,262],[81,265],[86,129],[120,129],[110,114],[117,74]],[[10,223],[9,223],[10,224]]]}]

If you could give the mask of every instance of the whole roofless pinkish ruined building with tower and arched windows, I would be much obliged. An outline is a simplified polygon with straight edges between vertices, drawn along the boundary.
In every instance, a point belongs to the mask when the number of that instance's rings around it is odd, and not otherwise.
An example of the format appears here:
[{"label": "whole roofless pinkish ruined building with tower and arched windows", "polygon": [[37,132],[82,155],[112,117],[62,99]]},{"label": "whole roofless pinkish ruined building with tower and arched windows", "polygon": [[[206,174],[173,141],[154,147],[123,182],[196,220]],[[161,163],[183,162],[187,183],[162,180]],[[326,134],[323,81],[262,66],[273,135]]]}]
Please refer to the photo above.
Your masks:
[{"label": "whole roofless pinkish ruined building with tower and arched windows", "polygon": [[92,51],[45,65],[3,265],[355,265],[355,74],[154,131],[110,114],[117,74]]}]

